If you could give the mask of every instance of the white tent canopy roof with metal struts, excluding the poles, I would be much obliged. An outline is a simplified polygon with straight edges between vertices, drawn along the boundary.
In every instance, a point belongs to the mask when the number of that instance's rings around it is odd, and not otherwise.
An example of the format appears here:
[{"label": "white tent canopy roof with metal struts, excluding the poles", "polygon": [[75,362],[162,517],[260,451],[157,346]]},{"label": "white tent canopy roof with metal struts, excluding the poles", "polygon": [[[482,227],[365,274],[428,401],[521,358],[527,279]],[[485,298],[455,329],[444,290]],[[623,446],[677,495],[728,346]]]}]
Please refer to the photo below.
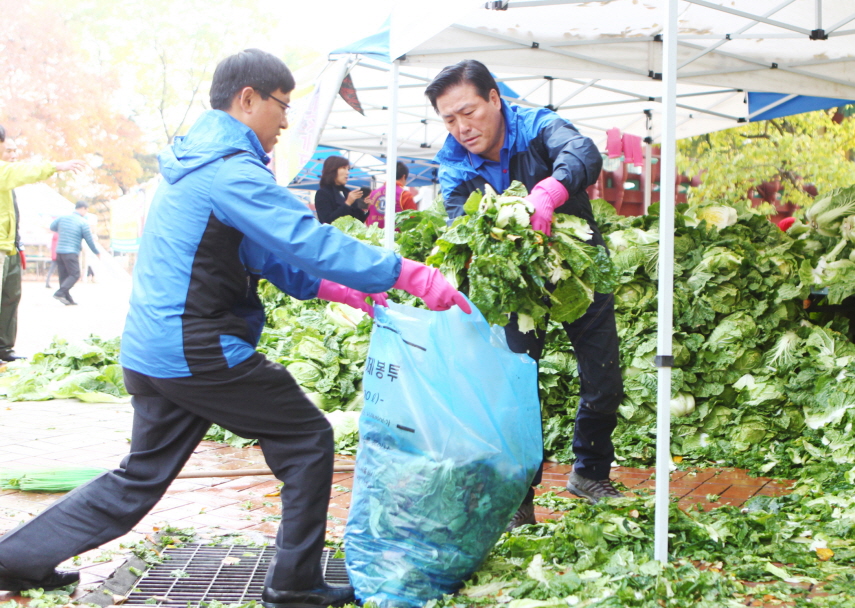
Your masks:
[{"label": "white tent canopy roof with metal struts, excluding the poles", "polygon": [[[352,77],[370,109],[360,117],[337,102],[322,143],[385,150],[392,57],[401,63],[402,155],[431,158],[441,147],[446,132],[424,87],[462,58],[485,63],[513,89],[503,91],[506,98],[553,107],[601,148],[612,127],[659,139],[662,0],[487,4],[502,10],[485,8],[483,1],[435,0],[428,17],[423,5],[399,2],[380,32],[333,53],[360,55],[349,59]],[[813,30],[823,30],[814,38],[827,38],[811,39]],[[850,0],[681,0],[678,52],[678,137],[855,100]],[[780,96],[752,103],[746,91]],[[791,98],[780,103],[801,93],[833,99],[813,106]]]}]

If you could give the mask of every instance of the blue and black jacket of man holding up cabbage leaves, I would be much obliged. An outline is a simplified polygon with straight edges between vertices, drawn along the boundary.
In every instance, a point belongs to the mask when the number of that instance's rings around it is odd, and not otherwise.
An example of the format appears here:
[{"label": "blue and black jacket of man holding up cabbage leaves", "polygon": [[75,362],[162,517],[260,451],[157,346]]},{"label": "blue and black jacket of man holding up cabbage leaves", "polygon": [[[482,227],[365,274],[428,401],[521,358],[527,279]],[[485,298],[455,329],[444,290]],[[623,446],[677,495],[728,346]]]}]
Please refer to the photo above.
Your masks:
[{"label": "blue and black jacket of man holding up cabbage leaves", "polygon": [[[556,213],[576,215],[587,220],[594,231],[593,243],[603,245],[594,221],[591,201],[585,189],[597,181],[603,159],[594,142],[573,125],[545,108],[523,108],[502,100],[505,118],[505,147],[509,181],[522,182],[531,192],[537,182],[554,177],[569,193],[567,202]],[[436,155],[439,184],[450,218],[463,215],[463,205],[475,190],[484,191],[485,178],[473,165],[469,152],[450,134]],[[490,184],[501,192],[499,184]]]}]

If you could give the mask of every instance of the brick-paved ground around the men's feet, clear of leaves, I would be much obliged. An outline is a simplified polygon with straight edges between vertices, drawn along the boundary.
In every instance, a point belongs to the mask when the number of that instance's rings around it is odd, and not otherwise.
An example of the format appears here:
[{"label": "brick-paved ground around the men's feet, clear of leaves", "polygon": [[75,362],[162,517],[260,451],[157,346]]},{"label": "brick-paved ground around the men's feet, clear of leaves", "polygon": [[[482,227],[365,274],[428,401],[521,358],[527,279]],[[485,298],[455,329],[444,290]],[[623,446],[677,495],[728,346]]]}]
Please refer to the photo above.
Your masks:
[{"label": "brick-paved ground around the men's feet, clear of leaves", "polygon": [[[127,452],[132,420],[129,404],[84,404],[74,400],[36,403],[0,401],[0,469],[61,467],[69,465],[114,467]],[[257,448],[236,449],[203,442],[185,470],[257,469],[264,466]],[[549,465],[539,492],[563,490],[570,467]],[[653,488],[652,469],[619,467],[613,478],[631,490]],[[340,538],[350,506],[352,473],[333,479],[327,533]],[[276,531],[279,499],[274,495],[279,482],[272,476],[207,477],[176,480],[164,498],[127,536],[102,549],[84,554],[67,566],[81,570],[81,590],[94,588],[124,561],[121,545],[144,539],[159,527],[170,524],[193,527],[203,537],[239,533],[253,541],[269,540]],[[765,478],[748,477],[744,471],[703,469],[672,474],[671,489],[680,504],[701,503],[705,508],[721,504],[742,504],[756,494],[775,495],[786,484]],[[720,496],[716,503],[707,495]],[[27,521],[62,495],[0,490],[0,533]],[[540,521],[559,516],[537,509]],[[114,553],[115,552],[115,553]],[[9,599],[0,593],[0,601]]]}]

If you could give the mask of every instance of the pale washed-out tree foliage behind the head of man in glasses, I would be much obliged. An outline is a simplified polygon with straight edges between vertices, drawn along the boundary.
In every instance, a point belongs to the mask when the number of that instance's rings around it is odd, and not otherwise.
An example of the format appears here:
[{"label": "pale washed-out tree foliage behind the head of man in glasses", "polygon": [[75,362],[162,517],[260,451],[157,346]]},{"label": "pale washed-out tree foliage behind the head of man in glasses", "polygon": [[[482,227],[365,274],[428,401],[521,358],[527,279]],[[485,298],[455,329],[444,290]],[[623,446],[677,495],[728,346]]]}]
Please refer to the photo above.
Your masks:
[{"label": "pale washed-out tree foliage behind the head of man in glasses", "polygon": [[124,76],[130,111],[158,146],[186,133],[209,108],[208,90],[226,55],[257,47],[274,52],[291,69],[313,59],[275,39],[278,19],[257,0],[202,2],[149,0],[48,0],[73,24],[102,69]]}]

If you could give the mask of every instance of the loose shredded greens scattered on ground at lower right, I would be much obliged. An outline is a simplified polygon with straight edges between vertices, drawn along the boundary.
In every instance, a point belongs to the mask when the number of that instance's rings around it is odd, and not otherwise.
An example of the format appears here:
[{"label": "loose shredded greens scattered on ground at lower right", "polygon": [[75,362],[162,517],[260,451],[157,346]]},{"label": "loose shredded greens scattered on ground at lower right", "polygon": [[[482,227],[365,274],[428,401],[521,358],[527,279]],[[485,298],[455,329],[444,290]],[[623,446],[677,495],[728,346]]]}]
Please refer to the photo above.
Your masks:
[{"label": "loose shredded greens scattered on ground at lower right", "polygon": [[822,488],[805,480],[742,507],[672,504],[666,565],[653,560],[652,496],[567,500],[560,521],[504,535],[459,596],[429,606],[855,605],[855,469],[831,469]]}]

